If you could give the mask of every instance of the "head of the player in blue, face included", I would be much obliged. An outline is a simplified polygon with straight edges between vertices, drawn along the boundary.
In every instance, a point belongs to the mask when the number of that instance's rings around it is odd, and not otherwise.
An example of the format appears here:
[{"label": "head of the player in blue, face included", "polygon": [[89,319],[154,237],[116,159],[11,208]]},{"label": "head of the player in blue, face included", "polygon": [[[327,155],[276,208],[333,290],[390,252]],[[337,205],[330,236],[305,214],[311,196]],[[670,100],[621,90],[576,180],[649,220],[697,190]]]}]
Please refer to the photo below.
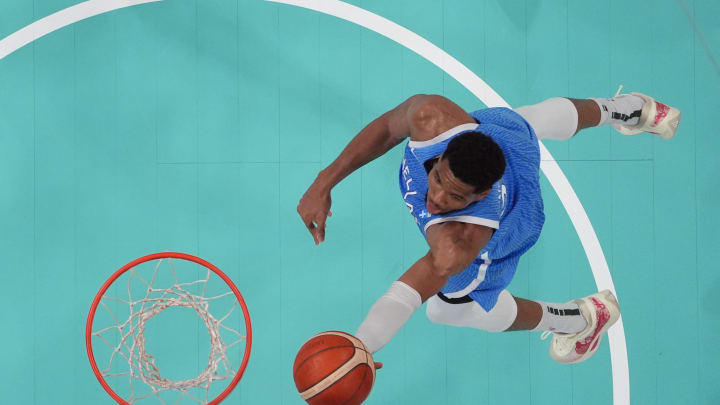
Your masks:
[{"label": "head of the player in blue, face included", "polygon": [[490,137],[480,132],[456,136],[428,173],[428,211],[455,211],[485,198],[504,172],[505,155]]}]

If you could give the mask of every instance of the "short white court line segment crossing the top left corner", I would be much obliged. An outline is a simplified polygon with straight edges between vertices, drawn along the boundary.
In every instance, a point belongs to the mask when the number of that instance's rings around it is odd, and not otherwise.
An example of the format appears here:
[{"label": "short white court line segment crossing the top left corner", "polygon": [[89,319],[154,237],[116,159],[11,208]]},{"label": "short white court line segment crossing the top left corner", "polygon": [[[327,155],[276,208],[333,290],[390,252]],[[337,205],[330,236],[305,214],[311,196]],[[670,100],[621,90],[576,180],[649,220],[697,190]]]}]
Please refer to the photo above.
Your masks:
[{"label": "short white court line segment crossing the top left corner", "polygon": [[0,40],[0,59],[23,46],[80,20],[123,7],[162,0],[88,0],[50,14]]}]

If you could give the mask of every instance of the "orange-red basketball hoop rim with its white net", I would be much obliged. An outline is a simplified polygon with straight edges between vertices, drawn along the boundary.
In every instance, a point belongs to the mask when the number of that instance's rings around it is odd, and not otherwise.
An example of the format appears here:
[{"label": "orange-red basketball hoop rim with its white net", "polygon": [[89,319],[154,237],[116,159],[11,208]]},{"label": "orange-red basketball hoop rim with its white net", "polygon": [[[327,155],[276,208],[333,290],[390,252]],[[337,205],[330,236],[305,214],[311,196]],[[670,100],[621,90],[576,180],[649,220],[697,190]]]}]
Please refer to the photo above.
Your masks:
[{"label": "orange-red basketball hoop rim with its white net", "polygon": [[[110,289],[118,294],[111,296]],[[120,293],[124,298],[120,298]],[[104,311],[98,311],[98,307]],[[146,347],[148,323],[173,307],[193,310],[207,328],[208,363],[194,378],[173,380],[163,376]],[[94,323],[102,325],[93,330]],[[85,327],[93,372],[105,391],[121,405],[149,404],[151,401],[144,400],[153,397],[162,404],[180,404],[186,399],[217,405],[240,381],[251,343],[250,315],[235,284],[211,263],[184,253],[155,253],[120,268],[95,296]],[[178,354],[183,355],[188,353]],[[106,367],[98,366],[96,356],[102,358],[101,364]],[[214,382],[228,380],[230,383],[224,389],[217,388],[219,384],[212,386]],[[119,395],[116,390],[122,388],[129,393]],[[173,395],[175,399],[169,400]]]}]

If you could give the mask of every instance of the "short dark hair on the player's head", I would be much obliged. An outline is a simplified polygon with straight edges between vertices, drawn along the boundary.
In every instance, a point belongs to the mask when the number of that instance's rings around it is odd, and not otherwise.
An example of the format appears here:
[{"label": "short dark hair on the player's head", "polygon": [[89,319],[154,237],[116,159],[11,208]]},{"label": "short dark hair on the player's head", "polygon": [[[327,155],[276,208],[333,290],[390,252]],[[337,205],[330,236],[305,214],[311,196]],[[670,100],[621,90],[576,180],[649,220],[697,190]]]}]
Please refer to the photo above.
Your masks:
[{"label": "short dark hair on the player's head", "polygon": [[505,155],[489,136],[482,132],[466,132],[448,143],[442,155],[453,175],[465,184],[483,192],[505,173]]}]

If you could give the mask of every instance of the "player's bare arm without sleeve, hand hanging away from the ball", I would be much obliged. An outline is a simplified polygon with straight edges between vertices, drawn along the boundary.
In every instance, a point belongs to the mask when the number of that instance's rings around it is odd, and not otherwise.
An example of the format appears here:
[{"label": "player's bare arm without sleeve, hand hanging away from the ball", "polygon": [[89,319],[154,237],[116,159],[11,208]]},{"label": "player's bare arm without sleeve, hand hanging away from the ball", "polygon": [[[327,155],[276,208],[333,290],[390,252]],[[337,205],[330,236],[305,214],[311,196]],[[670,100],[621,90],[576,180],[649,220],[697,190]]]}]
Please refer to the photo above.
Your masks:
[{"label": "player's bare arm without sleeve, hand hanging away from the ball", "polygon": [[333,187],[350,173],[382,156],[409,137],[409,120],[417,106],[428,97],[432,96],[412,96],[372,121],[350,141],[330,166],[318,174],[297,207],[298,214],[315,239],[316,245],[325,240],[325,221],[332,215],[330,191]]}]

